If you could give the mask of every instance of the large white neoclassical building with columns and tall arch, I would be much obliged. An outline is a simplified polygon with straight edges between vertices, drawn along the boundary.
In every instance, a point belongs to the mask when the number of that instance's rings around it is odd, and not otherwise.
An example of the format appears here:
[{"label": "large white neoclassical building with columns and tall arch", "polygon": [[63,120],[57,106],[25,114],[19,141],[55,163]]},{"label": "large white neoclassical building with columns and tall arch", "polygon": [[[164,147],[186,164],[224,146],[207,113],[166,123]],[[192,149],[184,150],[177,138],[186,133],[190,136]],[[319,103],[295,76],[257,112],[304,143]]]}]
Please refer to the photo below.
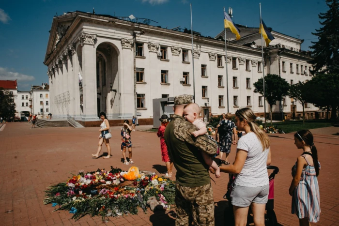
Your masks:
[{"label": "large white neoclassical building with columns and tall arch", "polygon": [[[228,105],[231,113],[248,106],[263,116],[263,98],[253,91],[263,69],[259,29],[240,30],[240,40],[227,32],[225,59],[224,31],[215,38],[195,33],[192,55],[187,30],[83,12],[54,17],[44,61],[49,111],[55,118],[72,116],[85,126],[97,125],[101,111],[112,124],[135,114],[139,124],[152,124],[153,99],[193,95],[195,90],[202,115],[220,115]],[[275,39],[264,52],[265,74],[280,75],[291,84],[311,79],[311,58],[300,50],[302,40],[277,31],[272,34]],[[300,116],[302,106],[289,97],[273,107],[275,118],[289,119],[293,111]],[[319,109],[308,104],[306,113],[314,118]]]}]

